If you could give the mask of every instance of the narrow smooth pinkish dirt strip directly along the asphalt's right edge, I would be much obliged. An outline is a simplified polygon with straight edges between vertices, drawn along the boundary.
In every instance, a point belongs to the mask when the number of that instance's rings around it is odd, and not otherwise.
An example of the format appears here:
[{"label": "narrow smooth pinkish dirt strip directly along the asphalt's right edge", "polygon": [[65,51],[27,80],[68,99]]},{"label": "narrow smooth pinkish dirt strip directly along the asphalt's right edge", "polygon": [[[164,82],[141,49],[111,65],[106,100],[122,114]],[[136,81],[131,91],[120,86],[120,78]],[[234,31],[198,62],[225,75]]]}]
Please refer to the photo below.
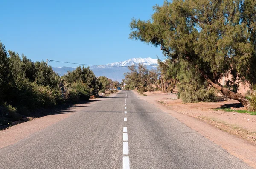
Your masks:
[{"label": "narrow smooth pinkish dirt strip directly along the asphalt's right edge", "polygon": [[151,99],[150,96],[142,96],[135,91],[134,93],[140,99],[143,99],[148,103],[160,108],[164,112],[169,113],[183,124],[186,124],[186,126],[226,149],[231,155],[240,158],[248,165],[256,168],[256,146],[250,142],[224,132],[218,128],[212,127],[205,121],[201,121],[197,118],[173,111],[171,110],[171,107],[166,107],[163,104],[160,104],[158,101]]}]

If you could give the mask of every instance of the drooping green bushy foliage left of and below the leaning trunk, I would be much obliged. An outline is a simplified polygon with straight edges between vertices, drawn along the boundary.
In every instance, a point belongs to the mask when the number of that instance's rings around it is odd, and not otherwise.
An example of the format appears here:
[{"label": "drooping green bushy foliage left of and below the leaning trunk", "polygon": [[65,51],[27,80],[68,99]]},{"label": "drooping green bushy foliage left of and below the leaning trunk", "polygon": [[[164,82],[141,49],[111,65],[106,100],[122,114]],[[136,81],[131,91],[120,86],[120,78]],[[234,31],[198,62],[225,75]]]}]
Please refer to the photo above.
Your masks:
[{"label": "drooping green bushy foliage left of and below the leaning trunk", "polygon": [[[182,99],[185,103],[215,101],[216,91],[208,85],[201,73],[192,67],[188,61],[180,59],[179,65],[177,65],[171,59],[166,59],[164,63],[160,62],[159,65],[164,79],[177,80],[178,99]],[[171,83],[169,87],[173,89],[174,86],[172,85],[174,84]]]}]

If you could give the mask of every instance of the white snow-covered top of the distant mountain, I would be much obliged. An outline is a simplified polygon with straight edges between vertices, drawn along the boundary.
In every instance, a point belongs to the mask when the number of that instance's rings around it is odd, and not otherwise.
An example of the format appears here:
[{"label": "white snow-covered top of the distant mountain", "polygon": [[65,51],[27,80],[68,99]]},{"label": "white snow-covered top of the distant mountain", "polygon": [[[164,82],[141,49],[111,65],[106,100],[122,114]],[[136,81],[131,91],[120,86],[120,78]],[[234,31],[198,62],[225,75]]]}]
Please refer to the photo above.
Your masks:
[{"label": "white snow-covered top of the distant mountain", "polygon": [[115,63],[109,63],[106,65],[102,65],[102,66],[131,66],[131,65],[139,65],[139,64],[143,64],[143,65],[147,65],[147,66],[157,66],[158,62],[157,59],[152,59],[151,57],[147,57],[147,58],[131,58],[128,60],[125,60],[123,62],[115,62]]}]

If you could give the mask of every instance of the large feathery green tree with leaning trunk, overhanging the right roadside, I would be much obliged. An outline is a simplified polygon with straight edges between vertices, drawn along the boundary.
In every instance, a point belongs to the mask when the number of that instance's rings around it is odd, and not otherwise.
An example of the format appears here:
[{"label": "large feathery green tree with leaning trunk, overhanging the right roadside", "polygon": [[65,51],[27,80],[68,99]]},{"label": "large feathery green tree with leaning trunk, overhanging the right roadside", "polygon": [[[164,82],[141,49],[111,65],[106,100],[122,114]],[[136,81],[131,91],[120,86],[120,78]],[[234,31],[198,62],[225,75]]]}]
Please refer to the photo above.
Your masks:
[{"label": "large feathery green tree with leaning trunk, overhanging the right roadside", "polygon": [[173,0],[154,10],[151,20],[132,20],[130,38],[159,46],[174,64],[186,60],[212,87],[247,107],[244,95],[218,80],[236,70],[239,80],[256,84],[256,1]]}]

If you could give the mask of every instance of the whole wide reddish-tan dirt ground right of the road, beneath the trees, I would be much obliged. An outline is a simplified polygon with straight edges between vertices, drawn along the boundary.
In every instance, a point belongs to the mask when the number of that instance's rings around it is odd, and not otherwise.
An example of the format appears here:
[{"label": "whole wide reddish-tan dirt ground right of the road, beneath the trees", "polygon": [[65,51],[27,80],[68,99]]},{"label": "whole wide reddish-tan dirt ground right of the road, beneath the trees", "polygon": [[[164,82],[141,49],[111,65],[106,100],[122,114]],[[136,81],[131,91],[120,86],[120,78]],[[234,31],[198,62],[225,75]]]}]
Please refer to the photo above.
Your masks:
[{"label": "whole wide reddish-tan dirt ground right of the road, beneath the trees", "polygon": [[256,168],[256,116],[215,111],[218,107],[236,107],[239,102],[183,104],[174,94],[147,92],[144,93],[147,96],[142,96],[134,93]]}]

